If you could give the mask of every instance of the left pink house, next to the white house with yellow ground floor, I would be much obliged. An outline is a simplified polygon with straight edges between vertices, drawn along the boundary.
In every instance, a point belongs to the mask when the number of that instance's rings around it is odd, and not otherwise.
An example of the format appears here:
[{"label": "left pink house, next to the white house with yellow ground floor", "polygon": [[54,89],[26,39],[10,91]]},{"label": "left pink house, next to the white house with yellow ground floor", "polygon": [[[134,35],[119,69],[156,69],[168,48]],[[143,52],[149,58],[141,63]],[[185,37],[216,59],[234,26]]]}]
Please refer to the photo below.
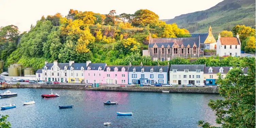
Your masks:
[{"label": "left pink house, next to the white house with yellow ground floor", "polygon": [[[87,62],[86,62],[87,64]],[[106,63],[89,63],[84,70],[85,83],[105,83],[104,69]]]}]

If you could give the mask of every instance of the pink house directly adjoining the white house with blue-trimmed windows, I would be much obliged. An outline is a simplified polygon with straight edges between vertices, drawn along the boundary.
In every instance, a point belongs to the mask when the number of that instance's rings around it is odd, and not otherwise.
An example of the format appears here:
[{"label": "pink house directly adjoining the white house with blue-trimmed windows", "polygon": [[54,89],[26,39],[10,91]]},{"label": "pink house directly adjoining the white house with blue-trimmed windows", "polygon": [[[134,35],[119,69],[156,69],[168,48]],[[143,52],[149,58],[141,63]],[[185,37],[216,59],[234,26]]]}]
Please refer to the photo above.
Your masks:
[{"label": "pink house directly adjoining the white house with blue-trimmed windows", "polygon": [[129,66],[106,66],[104,70],[105,84],[128,84]]}]

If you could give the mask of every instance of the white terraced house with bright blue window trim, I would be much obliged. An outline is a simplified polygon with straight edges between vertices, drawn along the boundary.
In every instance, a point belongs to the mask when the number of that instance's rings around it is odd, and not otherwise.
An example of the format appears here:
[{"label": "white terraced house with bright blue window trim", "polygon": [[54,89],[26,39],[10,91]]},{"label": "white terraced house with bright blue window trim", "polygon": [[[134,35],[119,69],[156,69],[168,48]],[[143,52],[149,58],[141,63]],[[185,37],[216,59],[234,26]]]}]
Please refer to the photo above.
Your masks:
[{"label": "white terraced house with bright blue window trim", "polygon": [[[168,63],[169,64],[169,63]],[[168,83],[168,71],[169,65],[167,66],[131,66],[129,65],[128,70],[128,84],[140,84],[144,82],[148,83]]]}]

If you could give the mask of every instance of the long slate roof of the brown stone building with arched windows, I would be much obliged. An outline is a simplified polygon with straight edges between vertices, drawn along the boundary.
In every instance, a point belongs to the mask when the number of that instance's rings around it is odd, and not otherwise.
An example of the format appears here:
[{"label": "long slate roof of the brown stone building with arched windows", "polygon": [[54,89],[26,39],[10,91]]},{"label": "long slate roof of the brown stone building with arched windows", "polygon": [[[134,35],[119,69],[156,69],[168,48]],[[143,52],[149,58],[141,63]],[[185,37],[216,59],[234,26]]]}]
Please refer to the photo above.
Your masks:
[{"label": "long slate roof of the brown stone building with arched windows", "polygon": [[156,44],[158,47],[167,47],[170,45],[170,47],[173,46],[174,43],[177,43],[179,46],[182,44],[184,47],[187,47],[190,45],[190,47],[193,47],[194,43],[197,47],[199,47],[199,38],[198,37],[183,37],[183,38],[150,38],[148,47],[153,48],[153,46]]}]

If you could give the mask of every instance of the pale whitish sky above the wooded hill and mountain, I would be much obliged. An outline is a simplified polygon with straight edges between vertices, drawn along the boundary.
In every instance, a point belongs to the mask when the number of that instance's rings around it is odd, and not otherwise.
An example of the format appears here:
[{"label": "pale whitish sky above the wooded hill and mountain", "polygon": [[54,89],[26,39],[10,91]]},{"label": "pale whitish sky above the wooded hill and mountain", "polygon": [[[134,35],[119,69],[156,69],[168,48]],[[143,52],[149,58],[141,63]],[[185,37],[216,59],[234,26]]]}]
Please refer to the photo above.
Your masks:
[{"label": "pale whitish sky above the wooded hill and mountain", "polygon": [[29,31],[31,24],[44,15],[68,14],[70,9],[108,14],[133,14],[148,9],[159,19],[172,19],[181,14],[207,10],[223,0],[0,0],[0,27],[15,25],[19,31]]}]

